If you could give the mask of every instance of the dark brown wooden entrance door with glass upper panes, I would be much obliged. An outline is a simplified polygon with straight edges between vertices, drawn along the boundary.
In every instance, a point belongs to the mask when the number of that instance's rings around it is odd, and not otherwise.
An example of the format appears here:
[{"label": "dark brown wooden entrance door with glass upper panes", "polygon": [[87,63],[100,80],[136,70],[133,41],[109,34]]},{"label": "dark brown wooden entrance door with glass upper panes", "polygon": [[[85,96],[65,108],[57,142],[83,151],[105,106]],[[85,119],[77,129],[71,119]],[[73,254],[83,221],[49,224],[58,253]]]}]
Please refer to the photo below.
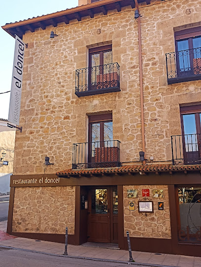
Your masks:
[{"label": "dark brown wooden entrance door with glass upper panes", "polygon": [[92,187],[88,196],[88,241],[118,243],[117,188]]}]

